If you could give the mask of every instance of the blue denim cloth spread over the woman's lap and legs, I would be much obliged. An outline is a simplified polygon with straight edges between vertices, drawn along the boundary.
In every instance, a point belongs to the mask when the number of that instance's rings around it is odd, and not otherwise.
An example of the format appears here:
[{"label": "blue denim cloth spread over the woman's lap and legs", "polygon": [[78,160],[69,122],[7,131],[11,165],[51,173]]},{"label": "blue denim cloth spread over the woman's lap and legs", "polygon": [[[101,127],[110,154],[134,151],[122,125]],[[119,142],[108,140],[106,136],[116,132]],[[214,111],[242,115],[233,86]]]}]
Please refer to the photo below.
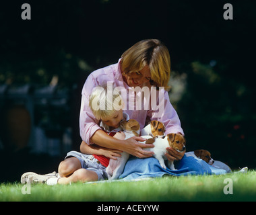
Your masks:
[{"label": "blue denim cloth spread over the woman's lap and legs", "polygon": [[147,159],[137,159],[130,157],[125,165],[125,169],[119,179],[131,180],[142,179],[146,177],[162,177],[163,175],[181,176],[181,175],[220,175],[226,174],[226,170],[217,169],[208,165],[205,161],[194,157],[184,155],[181,161],[175,161],[174,167],[177,170],[163,169],[158,160],[154,157]]}]

